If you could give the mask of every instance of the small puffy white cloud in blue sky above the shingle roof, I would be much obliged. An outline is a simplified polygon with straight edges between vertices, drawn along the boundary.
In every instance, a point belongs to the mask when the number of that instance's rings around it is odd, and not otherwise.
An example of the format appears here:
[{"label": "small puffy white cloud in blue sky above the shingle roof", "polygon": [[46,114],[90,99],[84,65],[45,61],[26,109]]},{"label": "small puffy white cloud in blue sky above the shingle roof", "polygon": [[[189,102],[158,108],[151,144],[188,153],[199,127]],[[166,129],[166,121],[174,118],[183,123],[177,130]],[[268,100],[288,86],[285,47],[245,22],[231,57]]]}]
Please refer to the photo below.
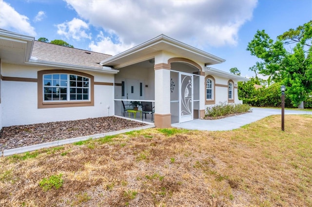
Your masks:
[{"label": "small puffy white cloud in blue sky above the shingle roof", "polygon": [[87,34],[87,31],[89,30],[89,25],[81,19],[73,18],[73,20],[71,21],[67,21],[56,26],[58,27],[58,34],[64,35],[67,39],[91,39],[91,34]]}]

